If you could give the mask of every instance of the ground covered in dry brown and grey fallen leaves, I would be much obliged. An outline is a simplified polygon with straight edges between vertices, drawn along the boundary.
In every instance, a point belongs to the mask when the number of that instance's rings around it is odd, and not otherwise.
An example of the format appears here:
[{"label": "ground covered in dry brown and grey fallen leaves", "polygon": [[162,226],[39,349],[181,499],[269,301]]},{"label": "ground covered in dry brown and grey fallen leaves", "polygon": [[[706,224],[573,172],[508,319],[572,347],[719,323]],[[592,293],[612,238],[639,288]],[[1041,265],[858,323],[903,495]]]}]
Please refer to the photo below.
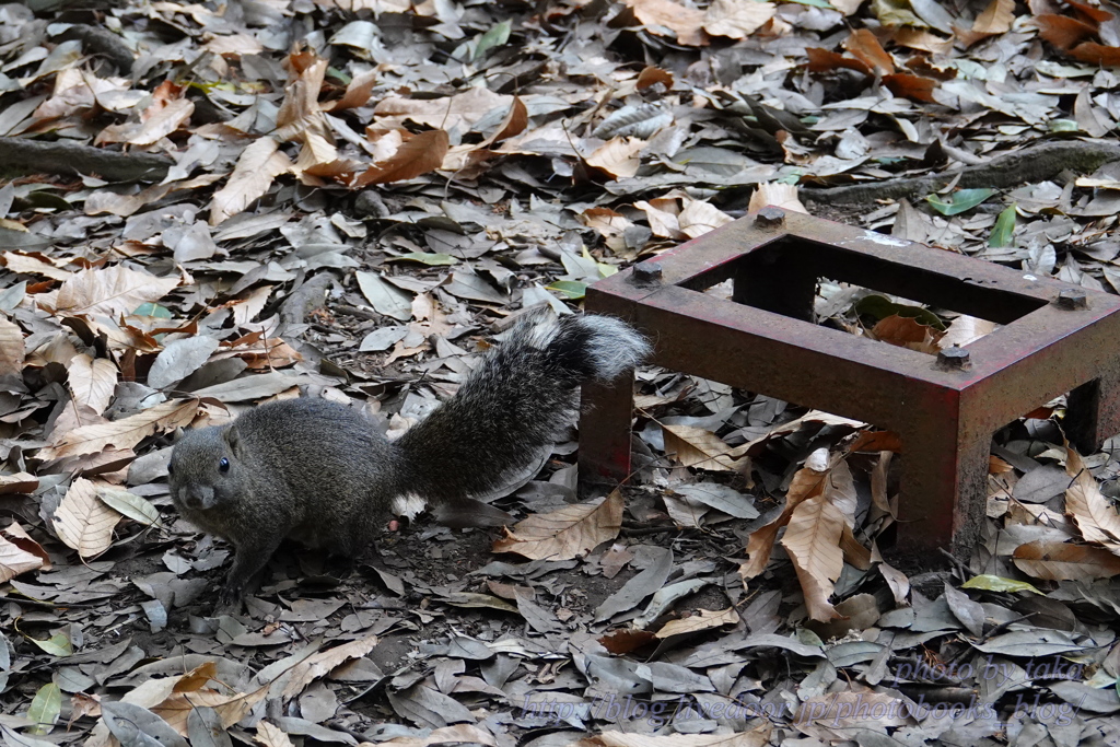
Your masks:
[{"label": "ground covered in dry brown and grey fallen leaves", "polygon": [[[0,738],[1117,744],[1120,463],[1066,448],[1064,400],[997,435],[948,570],[879,553],[897,436],[664,371],[622,492],[580,501],[572,439],[496,498],[508,535],[284,545],[236,617],[205,617],[230,551],[166,463],[278,396],[399,433],[524,310],[766,204],[1114,290],[1118,29],[1048,0],[0,6]],[[927,353],[992,332],[831,282],[815,310]]]}]

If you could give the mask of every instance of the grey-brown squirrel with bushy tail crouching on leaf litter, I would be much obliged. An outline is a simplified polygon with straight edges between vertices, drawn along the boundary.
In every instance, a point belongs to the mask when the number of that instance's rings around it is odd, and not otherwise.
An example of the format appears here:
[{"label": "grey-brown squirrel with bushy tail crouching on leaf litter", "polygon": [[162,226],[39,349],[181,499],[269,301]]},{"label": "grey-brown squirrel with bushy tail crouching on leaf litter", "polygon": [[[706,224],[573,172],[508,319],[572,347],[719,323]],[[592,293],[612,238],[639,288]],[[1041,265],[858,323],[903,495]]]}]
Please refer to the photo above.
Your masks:
[{"label": "grey-brown squirrel with bushy tail crouching on leaf litter", "polygon": [[648,343],[607,316],[536,316],[492,347],[458,392],[396,440],[343,404],[293,399],[232,423],[181,435],[171,449],[171,502],[235,550],[217,609],[240,606],[281,540],[353,558],[393,514],[431,506],[452,526],[502,525],[473,499],[503,486],[550,447],[581,383],[610,383]]}]

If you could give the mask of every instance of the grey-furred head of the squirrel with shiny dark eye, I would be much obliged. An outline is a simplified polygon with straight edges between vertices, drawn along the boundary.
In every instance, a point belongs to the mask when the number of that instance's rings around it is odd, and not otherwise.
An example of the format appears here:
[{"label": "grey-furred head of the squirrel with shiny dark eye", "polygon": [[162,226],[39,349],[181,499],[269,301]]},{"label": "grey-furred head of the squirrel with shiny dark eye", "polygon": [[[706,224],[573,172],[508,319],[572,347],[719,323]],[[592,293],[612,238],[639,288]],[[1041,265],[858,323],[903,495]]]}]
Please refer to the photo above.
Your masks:
[{"label": "grey-furred head of the squirrel with shiny dark eye", "polygon": [[240,451],[233,424],[176,436],[167,476],[179,513],[211,511],[237,499],[245,479]]}]

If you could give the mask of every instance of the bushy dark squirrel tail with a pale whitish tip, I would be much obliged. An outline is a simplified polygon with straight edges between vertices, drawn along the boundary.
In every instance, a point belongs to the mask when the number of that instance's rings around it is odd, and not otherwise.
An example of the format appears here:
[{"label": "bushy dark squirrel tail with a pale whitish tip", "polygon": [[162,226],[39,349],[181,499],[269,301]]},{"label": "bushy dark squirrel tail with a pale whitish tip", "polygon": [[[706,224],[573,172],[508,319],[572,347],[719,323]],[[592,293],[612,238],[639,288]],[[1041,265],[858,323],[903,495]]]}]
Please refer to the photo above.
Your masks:
[{"label": "bushy dark squirrel tail with a pale whitish tip", "polygon": [[619,319],[530,318],[491,348],[459,391],[398,441],[404,489],[450,525],[504,523],[469,496],[505,485],[562,436],[576,387],[609,383],[650,353]]}]

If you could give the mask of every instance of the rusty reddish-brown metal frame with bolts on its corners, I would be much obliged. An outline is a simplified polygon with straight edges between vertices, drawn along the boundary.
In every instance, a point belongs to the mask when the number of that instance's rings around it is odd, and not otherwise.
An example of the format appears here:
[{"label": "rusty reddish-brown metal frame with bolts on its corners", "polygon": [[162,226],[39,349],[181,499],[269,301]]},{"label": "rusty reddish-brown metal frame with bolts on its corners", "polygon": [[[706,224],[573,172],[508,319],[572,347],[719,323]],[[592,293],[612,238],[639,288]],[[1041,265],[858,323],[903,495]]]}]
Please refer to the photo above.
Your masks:
[{"label": "rusty reddish-brown metal frame with bolts on its corners", "polygon": [[[822,277],[1005,326],[940,357],[857,337],[805,320]],[[725,279],[734,300],[702,292]],[[1070,392],[1083,449],[1120,432],[1120,298],[808,215],[764,208],[595,283],[586,309],[644,332],[656,365],[897,431],[900,549],[974,549],[991,436],[1034,408]],[[632,415],[632,381],[585,386],[582,482],[629,475]]]}]

